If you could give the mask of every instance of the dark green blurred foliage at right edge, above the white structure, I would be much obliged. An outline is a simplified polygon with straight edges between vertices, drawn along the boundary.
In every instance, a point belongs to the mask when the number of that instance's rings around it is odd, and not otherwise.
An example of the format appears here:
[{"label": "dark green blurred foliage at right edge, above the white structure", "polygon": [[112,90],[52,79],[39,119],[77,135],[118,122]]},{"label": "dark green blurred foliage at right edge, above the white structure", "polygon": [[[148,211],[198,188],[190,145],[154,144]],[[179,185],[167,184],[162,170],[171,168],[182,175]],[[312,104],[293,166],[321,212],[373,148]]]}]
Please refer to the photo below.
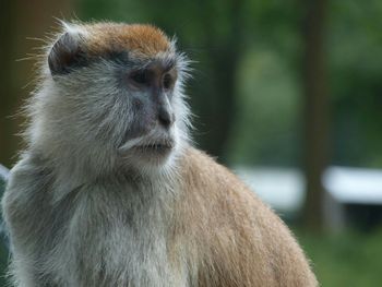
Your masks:
[{"label": "dark green blurred foliage at right edge, above the white structure", "polygon": [[327,29],[333,162],[382,166],[382,3],[333,1]]}]

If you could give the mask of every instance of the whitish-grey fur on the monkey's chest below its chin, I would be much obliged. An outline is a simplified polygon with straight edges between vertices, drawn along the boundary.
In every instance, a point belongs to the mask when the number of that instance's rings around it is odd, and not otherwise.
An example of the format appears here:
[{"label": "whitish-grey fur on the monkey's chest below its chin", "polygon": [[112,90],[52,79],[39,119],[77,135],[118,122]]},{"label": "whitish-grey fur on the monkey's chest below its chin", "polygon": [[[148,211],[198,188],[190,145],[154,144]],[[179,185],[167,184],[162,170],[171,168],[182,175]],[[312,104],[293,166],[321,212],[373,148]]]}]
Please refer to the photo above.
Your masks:
[{"label": "whitish-grey fur on the monkey's chest below its chin", "polygon": [[45,270],[60,286],[188,286],[184,266],[168,258],[168,196],[129,186],[80,190]]}]

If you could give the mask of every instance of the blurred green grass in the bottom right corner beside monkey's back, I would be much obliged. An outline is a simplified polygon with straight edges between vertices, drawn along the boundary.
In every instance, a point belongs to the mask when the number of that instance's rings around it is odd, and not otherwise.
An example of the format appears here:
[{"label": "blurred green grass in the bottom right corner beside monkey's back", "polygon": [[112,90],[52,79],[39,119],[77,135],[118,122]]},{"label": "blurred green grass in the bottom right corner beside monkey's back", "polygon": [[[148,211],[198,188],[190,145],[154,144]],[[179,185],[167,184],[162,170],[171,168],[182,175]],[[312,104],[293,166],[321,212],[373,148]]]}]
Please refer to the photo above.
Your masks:
[{"label": "blurred green grass in the bottom right corner beside monkey's back", "polygon": [[321,286],[380,286],[382,229],[368,235],[297,235]]}]

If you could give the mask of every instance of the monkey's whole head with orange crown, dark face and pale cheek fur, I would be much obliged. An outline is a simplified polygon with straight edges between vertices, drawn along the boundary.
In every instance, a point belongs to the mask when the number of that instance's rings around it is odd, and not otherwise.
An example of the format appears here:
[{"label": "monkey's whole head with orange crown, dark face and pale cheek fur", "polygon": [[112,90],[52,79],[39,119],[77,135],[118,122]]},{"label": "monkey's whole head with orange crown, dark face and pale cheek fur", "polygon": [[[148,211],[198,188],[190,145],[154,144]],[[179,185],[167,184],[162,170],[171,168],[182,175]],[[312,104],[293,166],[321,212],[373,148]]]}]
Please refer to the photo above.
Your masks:
[{"label": "monkey's whole head with orange crown, dark face and pale cheek fur", "polygon": [[82,168],[170,165],[188,137],[186,74],[186,58],[154,26],[63,24],[45,57],[29,142]]}]

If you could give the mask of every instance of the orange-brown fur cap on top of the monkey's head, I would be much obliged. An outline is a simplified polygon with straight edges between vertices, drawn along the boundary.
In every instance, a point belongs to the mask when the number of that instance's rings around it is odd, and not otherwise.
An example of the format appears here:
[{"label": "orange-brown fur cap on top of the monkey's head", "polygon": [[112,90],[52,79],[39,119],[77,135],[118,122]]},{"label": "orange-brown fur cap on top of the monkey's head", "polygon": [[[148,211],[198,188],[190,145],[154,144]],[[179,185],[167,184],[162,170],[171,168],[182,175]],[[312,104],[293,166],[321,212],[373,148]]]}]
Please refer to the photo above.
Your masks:
[{"label": "orange-brown fur cap on top of the monkey's head", "polygon": [[169,38],[159,28],[146,24],[97,23],[82,25],[86,49],[93,56],[114,51],[131,51],[153,57],[170,50]]}]

